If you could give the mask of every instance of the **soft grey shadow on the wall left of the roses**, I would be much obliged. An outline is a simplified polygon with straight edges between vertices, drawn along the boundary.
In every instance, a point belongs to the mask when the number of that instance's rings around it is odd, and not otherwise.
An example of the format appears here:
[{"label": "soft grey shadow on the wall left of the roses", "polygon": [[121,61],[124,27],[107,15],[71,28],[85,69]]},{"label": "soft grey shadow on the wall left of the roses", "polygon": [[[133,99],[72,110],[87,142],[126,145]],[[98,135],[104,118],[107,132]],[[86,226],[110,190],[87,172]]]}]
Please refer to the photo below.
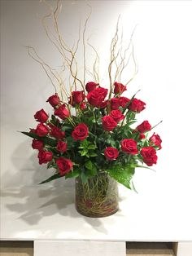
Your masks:
[{"label": "soft grey shadow on the wall left of the roses", "polygon": [[[20,143],[15,151],[12,152],[11,163],[17,171],[13,172],[7,169],[2,173],[3,187],[34,186],[55,173],[54,169],[47,170],[46,164],[38,164],[38,152],[37,150],[30,148],[31,141],[31,139],[25,140],[24,143]],[[29,155],[29,157],[28,152],[32,152],[32,155]],[[61,178],[52,181],[50,184],[55,187],[63,186],[63,184],[67,187],[73,186],[74,179],[65,180],[64,178]]]}]

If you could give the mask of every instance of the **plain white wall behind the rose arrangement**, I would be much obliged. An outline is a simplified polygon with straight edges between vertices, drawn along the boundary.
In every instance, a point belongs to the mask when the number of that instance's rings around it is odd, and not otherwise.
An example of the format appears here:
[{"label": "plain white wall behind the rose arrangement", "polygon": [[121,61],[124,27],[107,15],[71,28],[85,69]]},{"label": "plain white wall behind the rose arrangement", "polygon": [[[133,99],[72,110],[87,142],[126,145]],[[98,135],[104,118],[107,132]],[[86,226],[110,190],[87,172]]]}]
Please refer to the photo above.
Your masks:
[{"label": "plain white wall behind the rose arrangement", "polygon": [[[137,170],[134,180],[138,192],[153,195],[154,200],[166,197],[174,203],[182,195],[185,201],[191,201],[192,2],[89,1],[89,4],[93,11],[87,34],[94,34],[95,46],[103,59],[102,68],[107,64],[118,15],[121,14],[127,38],[138,24],[133,42],[139,72],[129,86],[128,95],[142,89],[138,97],[146,102],[147,108],[140,114],[140,120],[148,119],[153,125],[164,120],[155,129],[163,139],[156,172]],[[89,7],[84,1],[67,1],[63,6],[60,21],[66,37],[72,40]],[[31,139],[17,132],[36,126],[33,114],[37,110],[51,111],[46,99],[54,90],[24,48],[24,45],[35,46],[51,64],[59,65],[59,55],[47,41],[37,18],[44,13],[45,7],[38,1],[1,1],[2,187],[36,184],[50,174],[38,165]],[[103,84],[107,83],[105,72],[102,78]]]}]

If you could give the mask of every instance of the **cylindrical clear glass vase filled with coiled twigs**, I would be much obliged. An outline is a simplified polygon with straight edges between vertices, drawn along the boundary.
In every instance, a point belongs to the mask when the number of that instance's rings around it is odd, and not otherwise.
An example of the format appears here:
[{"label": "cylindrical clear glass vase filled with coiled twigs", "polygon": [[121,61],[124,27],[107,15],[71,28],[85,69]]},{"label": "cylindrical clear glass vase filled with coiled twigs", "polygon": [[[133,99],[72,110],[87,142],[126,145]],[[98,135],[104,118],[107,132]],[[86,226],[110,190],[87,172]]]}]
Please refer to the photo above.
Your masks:
[{"label": "cylindrical clear glass vase filled with coiled twigs", "polygon": [[76,210],[92,218],[107,217],[119,209],[118,187],[115,179],[100,172],[82,183],[76,178]]}]

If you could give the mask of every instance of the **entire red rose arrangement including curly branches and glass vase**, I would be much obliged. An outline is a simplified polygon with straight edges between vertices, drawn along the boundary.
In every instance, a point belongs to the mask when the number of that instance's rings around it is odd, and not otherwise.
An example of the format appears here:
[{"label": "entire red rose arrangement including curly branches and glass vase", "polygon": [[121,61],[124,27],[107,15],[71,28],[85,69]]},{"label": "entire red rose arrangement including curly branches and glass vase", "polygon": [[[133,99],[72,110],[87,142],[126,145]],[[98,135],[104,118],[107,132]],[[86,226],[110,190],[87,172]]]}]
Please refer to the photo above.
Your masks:
[{"label": "entire red rose arrangement including curly branches and glass vase", "polygon": [[[76,189],[76,209],[84,209],[85,215],[107,216],[118,209],[115,200],[117,191],[112,185],[113,181],[122,183],[126,188],[135,189],[132,182],[135,168],[151,168],[156,164],[156,152],[161,149],[162,141],[159,135],[151,133],[155,126],[151,126],[149,121],[137,124],[136,116],[146,108],[146,103],[137,99],[137,93],[129,98],[124,96],[137,68],[133,51],[127,57],[130,46],[133,46],[132,38],[129,46],[123,50],[123,33],[119,36],[119,19],[116,33],[111,40],[110,61],[107,66],[109,82],[105,87],[99,83],[98,52],[89,42],[85,42],[89,17],[85,20],[82,38],[79,37],[76,44],[70,47],[59,30],[59,10],[60,1],[55,9],[50,7],[50,14],[43,17],[42,24],[50,42],[62,56],[62,73],[67,71],[66,75],[69,74],[68,86],[65,83],[66,78],[63,79],[55,68],[42,60],[33,47],[27,46],[28,55],[41,64],[55,87],[55,94],[46,100],[53,113],[49,115],[43,108],[37,111],[34,114],[37,127],[29,132],[24,131],[23,134],[33,138],[32,147],[38,151],[39,164],[46,164],[47,168],[55,170],[50,178],[41,183],[60,178],[76,178],[80,183],[80,187]],[[54,20],[55,35],[46,24],[46,19],[50,17]],[[83,68],[78,68],[76,60],[80,41],[83,46]],[[87,46],[95,54],[92,72],[86,66]],[[122,83],[121,75],[130,56],[133,56],[135,73],[128,82]],[[82,75],[79,75],[80,69],[83,70]],[[87,80],[87,73],[93,79]],[[107,192],[109,188],[110,195]],[[81,193],[85,193],[83,199],[79,198]],[[87,207],[89,213],[86,212]]]}]

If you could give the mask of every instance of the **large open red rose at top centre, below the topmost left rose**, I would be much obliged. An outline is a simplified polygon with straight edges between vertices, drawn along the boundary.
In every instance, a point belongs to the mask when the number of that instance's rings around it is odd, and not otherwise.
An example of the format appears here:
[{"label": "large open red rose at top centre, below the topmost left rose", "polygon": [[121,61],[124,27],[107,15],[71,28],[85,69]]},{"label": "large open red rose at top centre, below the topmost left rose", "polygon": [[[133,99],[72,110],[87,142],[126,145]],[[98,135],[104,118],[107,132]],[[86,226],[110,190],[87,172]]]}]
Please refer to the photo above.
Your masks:
[{"label": "large open red rose at top centre, below the topmost left rose", "polygon": [[108,90],[103,87],[98,87],[94,90],[91,90],[87,95],[87,100],[89,104],[99,108],[100,105],[103,103],[103,100],[107,96],[107,91]]}]

